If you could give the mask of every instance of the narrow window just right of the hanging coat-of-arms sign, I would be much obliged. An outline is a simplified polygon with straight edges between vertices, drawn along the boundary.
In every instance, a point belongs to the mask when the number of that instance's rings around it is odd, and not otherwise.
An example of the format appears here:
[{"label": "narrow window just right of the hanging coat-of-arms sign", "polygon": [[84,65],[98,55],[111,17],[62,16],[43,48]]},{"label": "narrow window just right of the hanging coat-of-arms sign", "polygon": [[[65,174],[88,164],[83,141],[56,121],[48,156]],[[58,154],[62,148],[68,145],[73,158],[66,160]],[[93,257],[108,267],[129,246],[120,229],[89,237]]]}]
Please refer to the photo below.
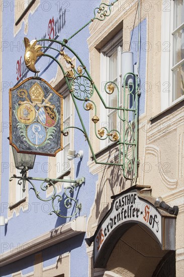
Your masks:
[{"label": "narrow window just right of the hanging coat-of-arms sign", "polygon": [[[71,106],[71,96],[68,93],[66,86],[59,90],[63,95],[63,129],[71,126],[72,118],[72,106]],[[63,150],[56,155],[56,168],[57,168],[57,177],[63,175],[70,170],[71,165],[70,161],[67,159],[68,149],[71,147],[71,129],[67,129],[68,135],[63,136]]]}]

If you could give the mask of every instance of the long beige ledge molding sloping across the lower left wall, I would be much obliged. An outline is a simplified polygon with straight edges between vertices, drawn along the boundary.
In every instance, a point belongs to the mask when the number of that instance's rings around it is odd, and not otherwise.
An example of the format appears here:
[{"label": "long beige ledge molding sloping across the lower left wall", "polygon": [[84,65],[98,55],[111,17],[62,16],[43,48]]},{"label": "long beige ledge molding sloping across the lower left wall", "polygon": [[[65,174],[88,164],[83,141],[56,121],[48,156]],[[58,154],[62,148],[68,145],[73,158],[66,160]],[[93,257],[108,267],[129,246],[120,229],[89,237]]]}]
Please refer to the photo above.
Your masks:
[{"label": "long beige ledge molding sloping across the lower left wall", "polygon": [[61,225],[33,240],[22,243],[19,247],[3,253],[0,258],[0,266],[4,266],[37,253],[45,248],[70,239],[85,232],[86,217],[78,217],[64,225]]}]

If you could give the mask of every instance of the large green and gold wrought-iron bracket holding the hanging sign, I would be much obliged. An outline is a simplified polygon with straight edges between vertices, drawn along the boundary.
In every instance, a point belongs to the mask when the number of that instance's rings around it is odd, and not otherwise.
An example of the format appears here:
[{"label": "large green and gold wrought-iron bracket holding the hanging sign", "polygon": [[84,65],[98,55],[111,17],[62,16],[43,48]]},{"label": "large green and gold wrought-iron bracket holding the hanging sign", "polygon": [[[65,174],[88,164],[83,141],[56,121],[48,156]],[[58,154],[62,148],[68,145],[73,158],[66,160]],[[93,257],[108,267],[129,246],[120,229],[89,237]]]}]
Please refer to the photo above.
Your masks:
[{"label": "large green and gold wrought-iron bracket holding the hanging sign", "polygon": [[[121,97],[121,90],[114,82],[107,82],[104,86],[104,90],[107,94],[116,93],[117,95],[117,104],[113,107],[109,106],[105,99],[103,98],[101,92],[98,90],[97,86],[95,85],[93,79],[91,78],[89,72],[86,69],[86,66],[83,64],[80,57],[74,52],[73,49],[71,49],[67,42],[70,40],[73,36],[75,36],[78,32],[80,32],[83,28],[85,28],[89,23],[93,22],[95,19],[97,20],[105,20],[106,17],[110,16],[111,14],[111,7],[117,2],[118,0],[114,1],[111,4],[102,3],[99,8],[96,8],[94,11],[94,18],[91,19],[88,23],[86,23],[83,27],[81,27],[77,32],[75,32],[72,36],[70,36],[68,39],[63,39],[63,41],[57,41],[52,39],[41,39],[37,42],[41,41],[49,41],[49,42],[55,42],[56,44],[59,44],[61,47],[61,51],[58,51],[58,49],[51,48],[52,50],[56,50],[57,52],[60,52],[61,56],[65,59],[65,61],[71,65],[70,72],[65,72],[62,64],[59,62],[59,60],[56,59],[56,57],[44,54],[44,56],[49,57],[57,62],[59,65],[68,90],[70,92],[71,98],[73,100],[77,115],[79,117],[81,127],[80,129],[85,139],[88,143],[88,146],[90,148],[91,154],[93,155],[93,159],[97,164],[104,164],[104,165],[116,165],[121,166],[123,169],[123,175],[126,179],[133,180],[137,178],[137,131],[138,131],[138,96],[139,96],[139,78],[134,73],[128,73],[126,76],[124,76],[123,81],[123,97]],[[139,38],[140,39],[140,38]],[[49,48],[47,46],[44,46],[44,48]],[[77,64],[77,70],[73,66],[71,59],[64,53],[64,50],[67,50],[71,53],[71,55],[74,55],[76,57],[76,64]],[[66,52],[66,51],[65,51]],[[67,57],[69,59],[67,59]],[[78,71],[78,68],[80,68],[80,71]],[[69,74],[70,73],[70,74]],[[131,75],[133,78],[133,83],[129,84],[126,88],[126,80],[127,77]],[[109,86],[113,87],[113,91],[109,90]],[[101,127],[101,131],[104,133],[102,135],[102,132],[100,133],[100,129],[97,128],[97,122],[98,122],[98,114],[97,114],[97,106],[93,100],[91,100],[91,97],[94,96],[94,94],[97,94],[100,101],[103,103],[104,107],[106,109],[111,109],[112,111],[115,110],[118,114],[118,117],[120,118],[120,121],[122,123],[121,129],[118,130],[116,128],[107,128],[107,127]],[[110,95],[111,97],[111,95]],[[123,98],[123,104],[120,105],[120,99]],[[116,145],[119,151],[119,154],[117,157],[114,158],[114,162],[99,162],[96,158],[96,154],[93,150],[93,147],[90,142],[90,138],[86,132],[86,128],[83,122],[83,119],[80,115],[80,110],[77,105],[77,101],[83,101],[83,108],[85,110],[87,109],[87,104],[92,104],[94,106],[94,117],[97,119],[94,120],[95,123],[95,134],[100,140],[109,140],[111,142],[116,141]],[[94,118],[93,117],[93,118]],[[73,126],[70,126],[69,128],[74,128]],[[102,130],[103,129],[103,130]],[[68,131],[66,129],[62,130],[64,135],[68,134]]]}]

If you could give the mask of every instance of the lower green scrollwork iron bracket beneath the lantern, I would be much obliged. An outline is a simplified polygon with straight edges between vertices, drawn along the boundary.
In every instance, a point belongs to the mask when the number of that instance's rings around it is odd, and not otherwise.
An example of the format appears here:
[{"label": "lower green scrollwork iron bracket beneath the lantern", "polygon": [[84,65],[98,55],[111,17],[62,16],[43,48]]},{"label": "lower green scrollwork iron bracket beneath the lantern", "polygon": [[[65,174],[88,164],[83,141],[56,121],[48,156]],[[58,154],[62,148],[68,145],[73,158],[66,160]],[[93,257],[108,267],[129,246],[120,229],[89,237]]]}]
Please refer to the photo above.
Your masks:
[{"label": "lower green scrollwork iron bracket beneath the lantern", "polygon": [[[25,191],[25,183],[26,181],[28,181],[29,184],[31,184],[31,188],[30,189],[33,189],[34,192],[35,192],[35,195],[38,199],[40,199],[41,201],[44,201],[44,202],[49,202],[51,201],[52,203],[52,211],[49,213],[49,215],[52,215],[53,213],[56,214],[58,217],[60,218],[72,218],[74,217],[78,212],[81,211],[81,203],[78,203],[78,201],[72,197],[72,194],[74,192],[74,188],[76,187],[80,187],[84,182],[85,182],[85,178],[84,177],[81,177],[77,180],[65,180],[65,179],[49,179],[49,178],[33,178],[33,177],[27,177],[27,171],[26,170],[22,170],[22,176],[16,176],[16,175],[13,175],[11,178],[10,178],[10,181],[13,180],[13,178],[17,178],[19,179],[18,181],[18,184],[21,185],[22,182],[23,182],[23,191]],[[40,196],[40,192],[37,191],[37,188],[36,186],[33,184],[32,181],[42,181],[41,185],[40,185],[40,188],[41,188],[41,191],[47,191],[49,189],[49,192],[51,191],[51,188],[52,187],[52,195],[49,196],[48,198],[42,198]],[[57,190],[56,190],[56,186],[55,186],[55,183],[56,182],[65,182],[65,183],[72,183],[73,185],[72,186],[68,186],[64,189],[64,196],[61,196],[60,194],[57,193]],[[63,202],[62,202],[63,200]],[[67,214],[67,210],[68,209],[71,209],[72,207],[74,207],[74,212],[70,215],[70,216],[64,216],[61,214],[61,210],[60,208],[59,209],[56,209],[57,208],[57,205],[60,204],[60,203],[63,203],[64,205],[64,208],[66,209],[66,214]]]}]

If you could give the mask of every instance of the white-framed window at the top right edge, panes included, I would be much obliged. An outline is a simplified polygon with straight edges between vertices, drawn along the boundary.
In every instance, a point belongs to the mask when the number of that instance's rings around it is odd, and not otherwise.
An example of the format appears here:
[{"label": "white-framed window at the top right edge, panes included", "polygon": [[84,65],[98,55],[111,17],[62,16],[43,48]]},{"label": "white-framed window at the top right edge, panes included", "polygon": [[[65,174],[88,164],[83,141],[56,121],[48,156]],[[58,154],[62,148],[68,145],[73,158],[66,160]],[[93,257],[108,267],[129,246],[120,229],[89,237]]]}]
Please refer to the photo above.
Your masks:
[{"label": "white-framed window at the top right edge, panes included", "polygon": [[[170,6],[168,7],[168,3]],[[161,44],[161,110],[184,95],[184,0],[163,0]]]}]

